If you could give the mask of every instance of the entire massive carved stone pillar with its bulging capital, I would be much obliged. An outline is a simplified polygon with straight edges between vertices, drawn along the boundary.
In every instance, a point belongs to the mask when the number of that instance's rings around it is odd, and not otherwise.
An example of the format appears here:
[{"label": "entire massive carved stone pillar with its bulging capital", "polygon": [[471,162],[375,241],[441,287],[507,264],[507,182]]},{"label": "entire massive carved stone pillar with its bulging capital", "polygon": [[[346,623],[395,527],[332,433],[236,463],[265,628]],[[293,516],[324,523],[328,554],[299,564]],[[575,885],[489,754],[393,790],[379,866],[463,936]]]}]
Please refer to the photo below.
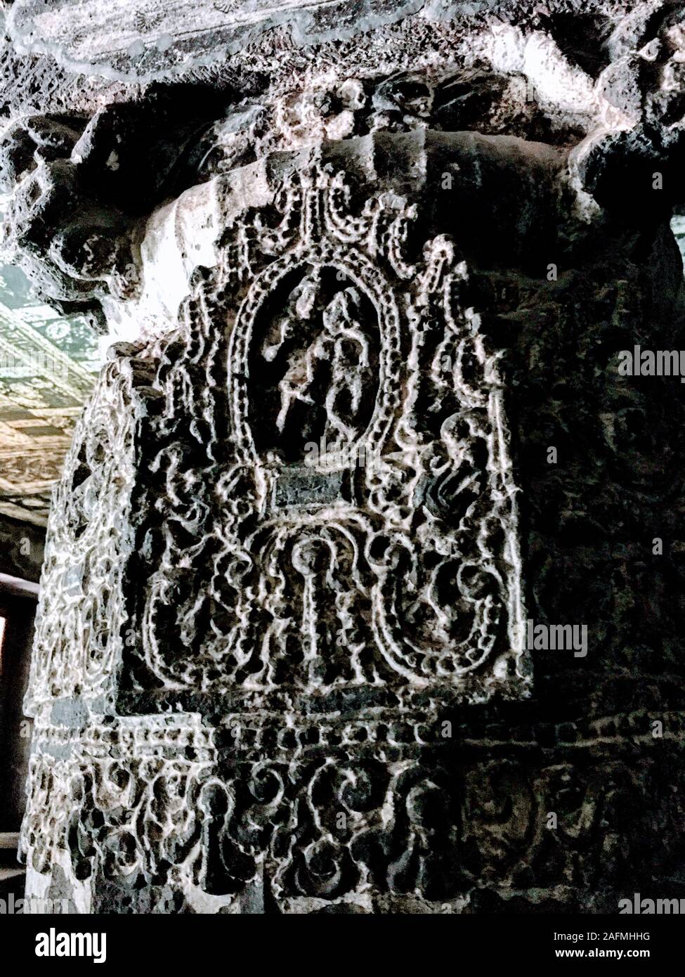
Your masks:
[{"label": "entire massive carved stone pillar with its bulging capital", "polygon": [[[200,109],[186,81],[7,135],[18,260],[115,340],[48,533],[29,895],[601,912],[678,858],[681,574],[651,540],[683,411],[616,357],[682,321],[652,190],[680,149],[596,80],[629,74],[620,38],[602,67],[580,15],[518,17],[570,72],[557,102],[501,23],[426,21],[412,54],[412,15],[335,67],[305,48],[307,84],[290,52],[251,96]],[[586,654],[527,619],[583,624]]]}]

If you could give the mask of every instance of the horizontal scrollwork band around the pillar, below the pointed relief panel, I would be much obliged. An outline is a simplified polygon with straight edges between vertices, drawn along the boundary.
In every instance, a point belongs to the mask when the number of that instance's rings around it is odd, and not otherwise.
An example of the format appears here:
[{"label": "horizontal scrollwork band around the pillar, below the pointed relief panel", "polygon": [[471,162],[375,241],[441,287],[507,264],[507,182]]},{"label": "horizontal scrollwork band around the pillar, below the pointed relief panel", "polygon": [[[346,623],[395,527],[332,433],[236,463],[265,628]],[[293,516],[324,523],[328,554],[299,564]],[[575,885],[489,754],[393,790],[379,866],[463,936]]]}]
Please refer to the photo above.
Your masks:
[{"label": "horizontal scrollwork band around the pillar, below the pointed relief panel", "polygon": [[[633,743],[645,718],[631,720]],[[605,905],[649,830],[643,787],[664,804],[664,860],[677,857],[679,815],[659,761],[631,769],[621,735],[604,730],[578,765],[594,733],[560,737],[549,764],[510,736],[499,759],[476,743],[459,759],[447,743],[359,741],[280,741],[266,759],[223,749],[196,719],[128,718],[77,738],[42,729],[23,828],[29,878],[40,893],[64,866],[81,912],[458,913],[517,912],[533,870],[557,880],[557,906],[581,906],[588,887]]]}]

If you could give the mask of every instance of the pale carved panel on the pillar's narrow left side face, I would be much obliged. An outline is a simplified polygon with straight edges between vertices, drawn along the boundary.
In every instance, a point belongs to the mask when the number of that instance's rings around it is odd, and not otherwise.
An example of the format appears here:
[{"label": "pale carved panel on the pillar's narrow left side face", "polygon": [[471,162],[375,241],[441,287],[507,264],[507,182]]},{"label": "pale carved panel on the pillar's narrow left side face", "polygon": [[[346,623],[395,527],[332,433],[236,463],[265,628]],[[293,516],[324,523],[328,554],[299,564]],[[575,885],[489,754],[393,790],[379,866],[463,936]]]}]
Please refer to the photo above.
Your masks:
[{"label": "pale carved panel on the pillar's narrow left side face", "polygon": [[54,489],[29,681],[34,703],[111,695],[124,622],[121,573],[133,540],[126,520],[135,384],[149,377],[145,362],[107,363]]}]

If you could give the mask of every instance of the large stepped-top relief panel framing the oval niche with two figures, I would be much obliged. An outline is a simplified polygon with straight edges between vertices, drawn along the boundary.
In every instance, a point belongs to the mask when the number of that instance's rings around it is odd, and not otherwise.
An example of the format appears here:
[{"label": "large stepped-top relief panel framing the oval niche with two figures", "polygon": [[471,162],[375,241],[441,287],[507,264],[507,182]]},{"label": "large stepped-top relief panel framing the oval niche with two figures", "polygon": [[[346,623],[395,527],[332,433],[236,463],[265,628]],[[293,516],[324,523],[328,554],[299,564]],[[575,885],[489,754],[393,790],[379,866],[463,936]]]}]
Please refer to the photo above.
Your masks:
[{"label": "large stepped-top relief panel framing the oval niche with two figures", "polygon": [[[414,218],[314,164],[197,277],[158,380],[159,565],[131,601],[153,684],[458,688],[489,659],[492,689],[523,688],[497,355],[455,245],[409,263]],[[217,379],[200,399],[193,370]]]}]

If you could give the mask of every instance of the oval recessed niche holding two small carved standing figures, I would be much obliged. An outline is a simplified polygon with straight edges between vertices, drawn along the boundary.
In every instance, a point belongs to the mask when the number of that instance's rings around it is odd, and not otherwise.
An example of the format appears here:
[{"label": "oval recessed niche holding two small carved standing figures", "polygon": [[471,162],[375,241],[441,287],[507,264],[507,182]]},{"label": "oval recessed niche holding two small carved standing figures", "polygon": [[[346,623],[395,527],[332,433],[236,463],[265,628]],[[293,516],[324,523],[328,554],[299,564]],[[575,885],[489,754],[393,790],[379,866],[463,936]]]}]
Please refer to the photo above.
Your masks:
[{"label": "oval recessed niche holding two small carved standing figures", "polygon": [[248,362],[260,455],[352,453],[373,413],[378,352],[376,310],[344,273],[310,265],[279,282],[255,317]]}]

